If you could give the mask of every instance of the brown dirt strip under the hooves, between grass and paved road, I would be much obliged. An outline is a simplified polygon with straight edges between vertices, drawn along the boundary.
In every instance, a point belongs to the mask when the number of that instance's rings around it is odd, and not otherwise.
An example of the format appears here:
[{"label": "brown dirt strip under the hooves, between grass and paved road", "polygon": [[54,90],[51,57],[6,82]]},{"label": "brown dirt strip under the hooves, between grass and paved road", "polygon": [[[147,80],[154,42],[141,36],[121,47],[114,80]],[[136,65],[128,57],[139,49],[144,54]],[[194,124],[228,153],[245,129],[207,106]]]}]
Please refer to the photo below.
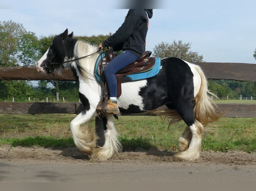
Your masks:
[{"label": "brown dirt strip under the hooves, between grass and paved road", "polygon": [[175,152],[150,150],[122,152],[107,161],[98,161],[84,155],[76,147],[51,149],[42,147],[0,147],[0,160],[13,162],[52,162],[52,163],[131,163],[131,164],[197,164],[197,165],[256,165],[256,153],[228,151],[226,153],[204,151],[195,162],[182,161],[173,157]]}]

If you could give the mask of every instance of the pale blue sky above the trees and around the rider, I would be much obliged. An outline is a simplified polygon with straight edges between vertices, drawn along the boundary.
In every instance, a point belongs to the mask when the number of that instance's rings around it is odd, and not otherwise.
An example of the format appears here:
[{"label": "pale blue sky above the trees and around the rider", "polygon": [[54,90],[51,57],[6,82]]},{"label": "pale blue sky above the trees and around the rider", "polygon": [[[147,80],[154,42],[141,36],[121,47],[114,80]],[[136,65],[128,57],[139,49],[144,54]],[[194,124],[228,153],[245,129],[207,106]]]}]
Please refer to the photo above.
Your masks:
[{"label": "pale blue sky above the trees and around the rider", "polygon": [[[128,9],[118,8],[129,8],[123,6],[125,2],[8,0],[0,2],[0,21],[21,23],[38,37],[57,35],[66,28],[75,36],[107,35],[123,23]],[[151,0],[151,4],[147,8],[155,9],[147,50],[181,40],[192,43],[190,50],[203,55],[206,62],[256,64],[255,0]]]}]

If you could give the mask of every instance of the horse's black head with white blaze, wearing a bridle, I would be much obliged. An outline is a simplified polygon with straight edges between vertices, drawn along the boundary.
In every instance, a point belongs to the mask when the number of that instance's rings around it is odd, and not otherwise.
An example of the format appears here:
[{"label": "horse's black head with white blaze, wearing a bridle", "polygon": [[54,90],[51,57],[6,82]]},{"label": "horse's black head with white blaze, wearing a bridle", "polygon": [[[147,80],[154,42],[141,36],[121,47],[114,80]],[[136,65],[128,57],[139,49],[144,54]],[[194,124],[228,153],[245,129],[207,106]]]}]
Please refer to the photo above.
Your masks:
[{"label": "horse's black head with white blaze, wearing a bridle", "polygon": [[54,70],[60,71],[63,67],[62,62],[74,57],[73,51],[70,50],[69,45],[76,40],[73,39],[73,32],[68,35],[68,29],[66,29],[60,35],[54,37],[50,47],[44,53],[42,58],[37,61],[37,71],[46,72],[47,74],[53,73]]}]

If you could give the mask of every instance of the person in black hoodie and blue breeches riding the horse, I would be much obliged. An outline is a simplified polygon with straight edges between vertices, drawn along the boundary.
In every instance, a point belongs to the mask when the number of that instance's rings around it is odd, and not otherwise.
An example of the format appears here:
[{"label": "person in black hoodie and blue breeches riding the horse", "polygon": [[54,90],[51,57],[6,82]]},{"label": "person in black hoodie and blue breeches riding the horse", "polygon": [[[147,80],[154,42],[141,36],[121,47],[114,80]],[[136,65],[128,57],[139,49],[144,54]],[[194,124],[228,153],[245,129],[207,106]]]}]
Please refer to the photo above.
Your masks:
[{"label": "person in black hoodie and blue breeches riding the horse", "polygon": [[153,9],[129,9],[122,26],[99,45],[100,49],[112,46],[114,51],[124,51],[110,61],[103,71],[109,89],[107,113],[119,113],[115,74],[135,62],[145,52],[146,35],[149,27],[148,18],[152,18],[152,16]]}]

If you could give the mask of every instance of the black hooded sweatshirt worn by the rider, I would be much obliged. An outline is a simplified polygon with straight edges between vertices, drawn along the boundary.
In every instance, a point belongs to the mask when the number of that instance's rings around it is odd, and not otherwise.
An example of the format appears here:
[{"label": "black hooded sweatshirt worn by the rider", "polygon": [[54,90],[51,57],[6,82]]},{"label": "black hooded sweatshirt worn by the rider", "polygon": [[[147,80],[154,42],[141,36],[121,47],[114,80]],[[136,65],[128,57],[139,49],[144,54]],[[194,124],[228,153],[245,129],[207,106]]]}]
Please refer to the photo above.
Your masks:
[{"label": "black hooded sweatshirt worn by the rider", "polygon": [[129,9],[122,26],[102,46],[112,46],[114,51],[127,50],[139,57],[145,52],[148,18],[152,16],[153,9]]}]

